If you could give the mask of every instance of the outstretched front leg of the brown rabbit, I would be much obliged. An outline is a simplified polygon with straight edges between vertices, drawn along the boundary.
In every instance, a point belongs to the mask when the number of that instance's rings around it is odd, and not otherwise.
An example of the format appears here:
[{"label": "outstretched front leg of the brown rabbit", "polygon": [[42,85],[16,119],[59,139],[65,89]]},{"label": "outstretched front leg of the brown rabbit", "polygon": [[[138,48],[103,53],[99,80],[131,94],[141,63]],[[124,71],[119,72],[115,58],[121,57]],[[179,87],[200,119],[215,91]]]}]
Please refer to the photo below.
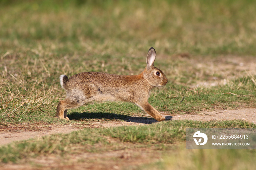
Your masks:
[{"label": "outstretched front leg of the brown rabbit", "polygon": [[165,117],[163,117],[157,109],[155,109],[153,106],[151,106],[148,102],[146,103],[140,103],[137,104],[140,108],[142,108],[148,115],[152,116],[157,121],[163,121],[165,120]]}]

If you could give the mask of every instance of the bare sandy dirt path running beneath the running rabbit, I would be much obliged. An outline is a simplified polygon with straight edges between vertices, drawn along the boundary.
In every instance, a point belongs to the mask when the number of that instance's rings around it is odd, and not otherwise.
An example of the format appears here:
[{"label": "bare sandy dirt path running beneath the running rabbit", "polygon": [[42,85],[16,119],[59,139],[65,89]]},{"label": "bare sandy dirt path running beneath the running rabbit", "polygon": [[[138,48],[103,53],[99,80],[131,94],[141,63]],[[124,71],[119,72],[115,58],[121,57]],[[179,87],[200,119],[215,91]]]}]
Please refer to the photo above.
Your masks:
[{"label": "bare sandy dirt path running beneath the running rabbit", "polygon": [[[202,111],[196,114],[168,114],[162,113],[166,120],[200,120],[200,121],[209,121],[209,120],[245,120],[249,122],[256,123],[256,109],[255,108],[241,108],[237,110],[215,110],[215,111]],[[143,125],[151,124],[157,122],[152,118],[141,118],[133,117],[127,119],[126,121],[109,121],[107,123],[101,122],[92,122],[90,123],[90,128],[98,127],[116,127],[123,125]],[[83,127],[78,127],[76,125],[47,125],[45,127],[40,127],[35,130],[27,131],[26,128],[20,130],[19,127],[10,127],[11,130],[6,130],[0,132],[0,146],[8,144],[14,141],[22,141],[31,138],[40,138],[42,136],[50,134],[60,134],[60,133],[70,133],[72,131],[80,130]]]}]

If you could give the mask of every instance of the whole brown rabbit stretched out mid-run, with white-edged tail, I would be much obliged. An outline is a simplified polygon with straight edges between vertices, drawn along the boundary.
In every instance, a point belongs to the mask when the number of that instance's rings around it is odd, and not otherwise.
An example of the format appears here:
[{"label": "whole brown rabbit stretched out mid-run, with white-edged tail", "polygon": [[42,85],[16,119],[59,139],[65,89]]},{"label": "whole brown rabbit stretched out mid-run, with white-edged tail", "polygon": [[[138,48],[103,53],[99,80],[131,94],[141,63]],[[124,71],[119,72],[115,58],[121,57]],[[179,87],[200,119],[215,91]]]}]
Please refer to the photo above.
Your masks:
[{"label": "whole brown rabbit stretched out mid-run, with white-edged tail", "polygon": [[154,67],[156,52],[153,47],[148,50],[147,66],[136,76],[123,76],[99,72],[79,73],[69,79],[60,76],[60,84],[66,90],[65,100],[60,101],[56,117],[68,119],[67,110],[78,108],[90,101],[128,101],[138,105],[158,121],[165,120],[153,106],[148,103],[150,91],[154,87],[167,83],[165,74]]}]

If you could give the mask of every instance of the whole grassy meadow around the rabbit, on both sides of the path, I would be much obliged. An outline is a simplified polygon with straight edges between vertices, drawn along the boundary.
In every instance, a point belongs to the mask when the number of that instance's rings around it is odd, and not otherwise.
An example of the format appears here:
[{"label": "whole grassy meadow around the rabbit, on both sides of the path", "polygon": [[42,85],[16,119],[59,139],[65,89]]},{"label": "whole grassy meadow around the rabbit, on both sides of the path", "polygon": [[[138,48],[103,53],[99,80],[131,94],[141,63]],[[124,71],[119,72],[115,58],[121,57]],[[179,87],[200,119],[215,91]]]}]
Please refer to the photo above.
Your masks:
[{"label": "whole grassy meadow around the rabbit, on both sides of the path", "polygon": [[[255,6],[251,0],[2,0],[1,131],[10,127],[36,130],[50,125],[83,127],[93,122],[145,117],[138,107],[120,102],[69,110],[71,121],[54,116],[57,103],[65,98],[59,83],[61,74],[70,77],[96,71],[136,75],[146,66],[150,47],[157,52],[155,66],[169,81],[163,88],[154,89],[149,98],[158,111],[172,115],[255,108]],[[242,120],[173,120],[139,127],[84,128],[2,146],[0,161],[3,165],[29,162],[40,168],[42,165],[32,158],[50,156],[60,161],[60,157],[79,157],[82,153],[129,150],[127,159],[114,155],[72,160],[92,167],[95,161],[102,162],[103,167],[120,161],[120,167],[127,169],[255,166],[254,150],[185,150],[186,127],[255,128],[255,124]],[[139,159],[139,151],[145,152],[145,159]],[[200,164],[202,161],[205,163]],[[72,163],[60,161],[55,166],[63,165]]]}]

